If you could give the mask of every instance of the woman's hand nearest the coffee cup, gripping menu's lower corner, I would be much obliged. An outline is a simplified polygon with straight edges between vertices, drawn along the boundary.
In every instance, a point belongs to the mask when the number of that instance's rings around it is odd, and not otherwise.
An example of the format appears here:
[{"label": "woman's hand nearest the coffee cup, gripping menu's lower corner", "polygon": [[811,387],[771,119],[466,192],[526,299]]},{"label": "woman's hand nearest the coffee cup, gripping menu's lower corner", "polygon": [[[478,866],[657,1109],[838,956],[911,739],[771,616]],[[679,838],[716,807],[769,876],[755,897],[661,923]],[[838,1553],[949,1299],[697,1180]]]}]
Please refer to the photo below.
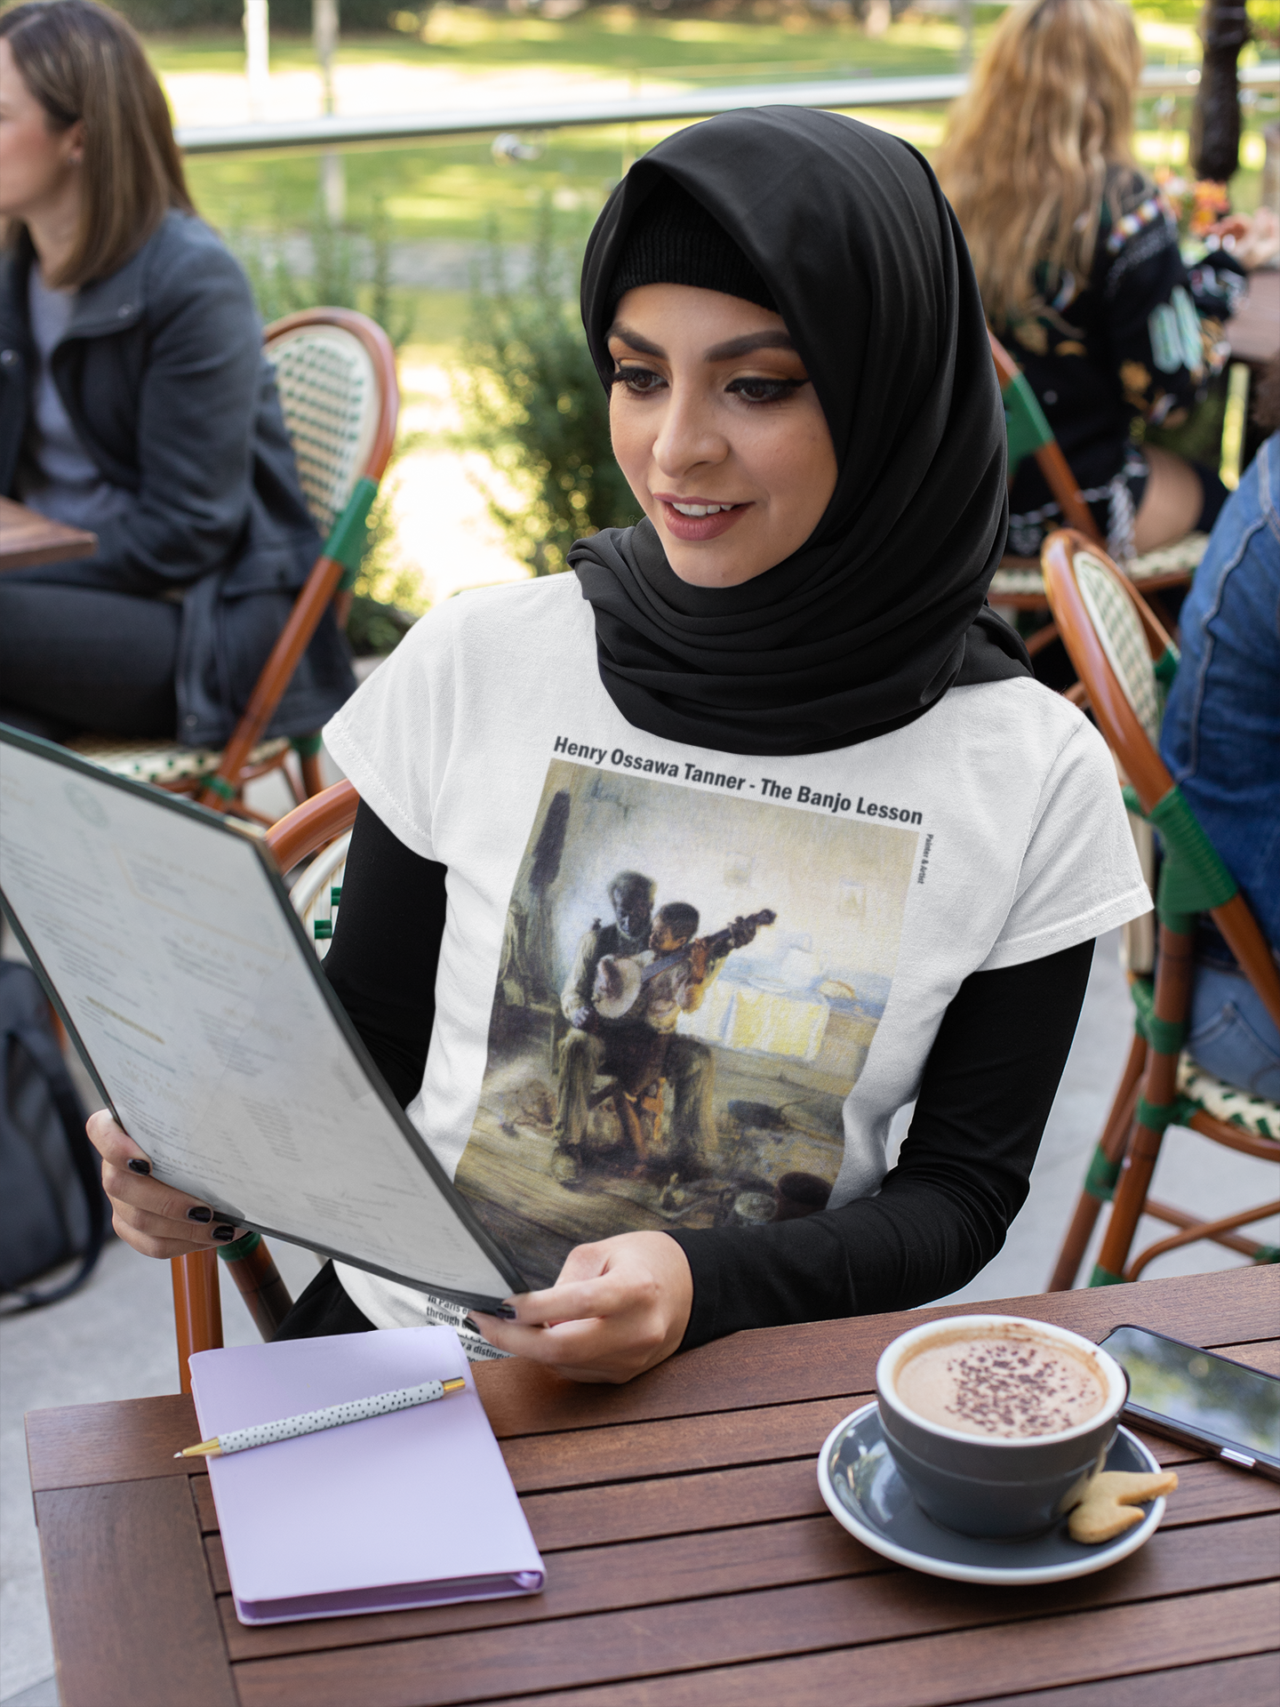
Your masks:
[{"label": "woman's hand nearest the coffee cup, gripping menu's lower corner", "polygon": [[621,1232],[579,1244],[553,1287],[512,1304],[515,1321],[471,1313],[490,1345],[572,1381],[630,1381],[684,1338],[693,1275],[666,1232]]}]

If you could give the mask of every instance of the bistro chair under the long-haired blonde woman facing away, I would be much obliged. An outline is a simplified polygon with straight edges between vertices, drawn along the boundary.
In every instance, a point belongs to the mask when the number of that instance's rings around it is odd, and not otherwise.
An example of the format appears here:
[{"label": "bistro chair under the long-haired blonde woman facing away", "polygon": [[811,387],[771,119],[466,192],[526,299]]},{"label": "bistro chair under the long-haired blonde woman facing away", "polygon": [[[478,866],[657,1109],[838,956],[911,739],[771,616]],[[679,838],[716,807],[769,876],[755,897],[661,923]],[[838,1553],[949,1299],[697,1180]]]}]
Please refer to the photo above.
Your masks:
[{"label": "bistro chair under the long-haired blonde woman facing away", "polygon": [[[1005,406],[1005,432],[1009,435],[1009,478],[1017,473],[1019,464],[1034,456],[1044,476],[1044,485],[1062,507],[1068,527],[1075,527],[1085,539],[1103,548],[1106,541],[1097,531],[1097,522],[1089,505],[1080,497],[1067,457],[1062,454],[1053,428],[1044,420],[1036,393],[1027,384],[1017,362],[1000,340],[988,331],[995,372],[1000,379],[1000,398]],[[1208,534],[1190,533],[1172,545],[1133,556],[1125,565],[1125,574],[1145,592],[1161,592],[1166,587],[1184,587],[1200,558],[1205,555]],[[1004,556],[992,579],[988,594],[992,604],[1010,611],[1048,611],[1050,601],[1044,596],[1044,575],[1036,558]],[[1027,652],[1034,657],[1046,645],[1058,638],[1056,623],[1050,621],[1027,638]]]}]

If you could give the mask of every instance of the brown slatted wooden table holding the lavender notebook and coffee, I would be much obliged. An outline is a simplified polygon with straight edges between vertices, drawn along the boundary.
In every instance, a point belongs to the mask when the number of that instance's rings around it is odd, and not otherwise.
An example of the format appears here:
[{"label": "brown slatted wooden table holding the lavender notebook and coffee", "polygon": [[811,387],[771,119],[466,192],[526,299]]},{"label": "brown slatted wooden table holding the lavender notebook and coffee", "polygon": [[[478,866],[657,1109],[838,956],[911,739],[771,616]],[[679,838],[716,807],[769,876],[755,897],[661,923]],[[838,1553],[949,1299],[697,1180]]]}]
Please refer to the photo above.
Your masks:
[{"label": "brown slatted wooden table holding the lavender notebook and coffee", "polygon": [[[975,1306],[968,1306],[969,1309]],[[1280,1372],[1280,1270],[1060,1292]],[[742,1333],[625,1388],[476,1369],[539,1596],[246,1628],[189,1398],[27,1417],[63,1707],[1275,1707],[1280,1485],[1150,1439],[1181,1485],[1138,1553],[995,1589],[891,1567],[831,1518],[814,1459],[910,1323]],[[317,1490],[323,1499],[323,1490]]]}]

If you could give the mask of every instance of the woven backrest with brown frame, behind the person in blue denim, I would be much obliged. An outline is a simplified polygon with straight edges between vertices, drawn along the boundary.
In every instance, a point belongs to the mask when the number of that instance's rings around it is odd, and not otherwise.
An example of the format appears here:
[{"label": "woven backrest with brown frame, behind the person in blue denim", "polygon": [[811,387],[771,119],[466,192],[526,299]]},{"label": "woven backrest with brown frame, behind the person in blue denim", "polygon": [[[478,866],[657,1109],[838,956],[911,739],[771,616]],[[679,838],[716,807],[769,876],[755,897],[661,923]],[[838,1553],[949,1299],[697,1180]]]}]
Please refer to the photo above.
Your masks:
[{"label": "woven backrest with brown frame, behind the person in blue denim", "polygon": [[[1161,896],[1166,893],[1164,879],[1174,854],[1193,867],[1217,867],[1229,893],[1231,879],[1181,790],[1174,787],[1155,746],[1161,720],[1155,664],[1176,657],[1169,635],[1128,577],[1079,533],[1065,527],[1051,533],[1044,541],[1041,567],[1044,596],[1085,686],[1097,727],[1130,778],[1142,811],[1166,836],[1169,859],[1161,874]],[[1191,855],[1183,852],[1179,824],[1191,845],[1200,843],[1200,855],[1195,850]],[[1157,905],[1162,917],[1167,917],[1164,901]],[[1190,910],[1213,915],[1241,970],[1280,1024],[1280,973],[1244,896],[1234,893],[1222,905],[1210,906],[1193,901]]]}]

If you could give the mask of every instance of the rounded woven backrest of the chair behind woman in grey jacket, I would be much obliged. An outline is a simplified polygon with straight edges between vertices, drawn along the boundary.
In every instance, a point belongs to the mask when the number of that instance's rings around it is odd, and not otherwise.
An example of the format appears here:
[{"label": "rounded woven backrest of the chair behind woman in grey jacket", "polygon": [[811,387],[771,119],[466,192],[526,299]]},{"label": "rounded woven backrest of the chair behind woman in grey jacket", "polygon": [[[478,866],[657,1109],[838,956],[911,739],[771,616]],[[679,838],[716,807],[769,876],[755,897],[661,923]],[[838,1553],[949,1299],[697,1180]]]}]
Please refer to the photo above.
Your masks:
[{"label": "rounded woven backrest of the chair behind woman in grey jacket", "polygon": [[307,507],[321,538],[355,483],[377,483],[391,454],[399,398],[391,345],[350,309],[307,309],[266,328],[280,408]]}]

